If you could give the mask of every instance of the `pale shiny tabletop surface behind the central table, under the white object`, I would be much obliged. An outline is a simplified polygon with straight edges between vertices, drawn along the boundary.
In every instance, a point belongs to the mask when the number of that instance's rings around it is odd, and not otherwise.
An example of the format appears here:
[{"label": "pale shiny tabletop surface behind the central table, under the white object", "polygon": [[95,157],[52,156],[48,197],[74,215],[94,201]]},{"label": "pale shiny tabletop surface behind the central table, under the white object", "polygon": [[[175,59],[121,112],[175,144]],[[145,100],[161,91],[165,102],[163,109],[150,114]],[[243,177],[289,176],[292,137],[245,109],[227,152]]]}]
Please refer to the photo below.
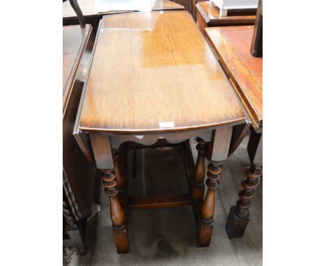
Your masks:
[{"label": "pale shiny tabletop surface behind the central table, under the white object", "polygon": [[[114,12],[107,12],[107,13],[96,13],[95,10],[95,0],[78,0],[78,4],[80,9],[85,18],[89,17],[102,17],[103,15],[107,14],[114,14],[118,13]],[[153,10],[183,10],[185,9],[184,6],[181,6],[178,3],[174,3],[173,1],[169,0],[157,0]],[[125,13],[125,11],[123,11]],[[69,19],[72,17],[77,17],[75,11],[70,6],[69,1],[65,1],[63,3],[63,19]]]}]

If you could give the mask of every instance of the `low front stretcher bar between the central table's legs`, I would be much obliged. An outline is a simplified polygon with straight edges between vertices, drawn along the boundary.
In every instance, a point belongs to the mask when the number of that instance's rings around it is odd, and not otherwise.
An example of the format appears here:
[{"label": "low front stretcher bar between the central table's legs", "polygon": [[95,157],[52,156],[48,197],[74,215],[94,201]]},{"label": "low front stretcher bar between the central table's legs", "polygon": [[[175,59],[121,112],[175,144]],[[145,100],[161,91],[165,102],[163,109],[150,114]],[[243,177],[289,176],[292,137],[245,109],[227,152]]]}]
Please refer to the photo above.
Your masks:
[{"label": "low front stretcher bar between the central table's legs", "polygon": [[183,205],[192,205],[190,194],[146,196],[139,198],[129,198],[128,208],[164,208]]}]

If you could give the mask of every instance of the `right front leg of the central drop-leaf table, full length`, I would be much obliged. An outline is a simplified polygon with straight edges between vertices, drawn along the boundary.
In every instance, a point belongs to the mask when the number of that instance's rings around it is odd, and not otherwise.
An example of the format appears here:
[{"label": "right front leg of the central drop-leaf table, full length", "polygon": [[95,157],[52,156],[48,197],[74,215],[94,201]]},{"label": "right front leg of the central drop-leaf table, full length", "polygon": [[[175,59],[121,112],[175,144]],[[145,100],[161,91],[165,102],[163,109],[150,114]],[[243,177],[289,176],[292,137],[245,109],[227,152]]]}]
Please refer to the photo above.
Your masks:
[{"label": "right front leg of the central drop-leaf table, full length", "polygon": [[[222,161],[228,157],[232,127],[223,127],[214,130],[212,133],[212,154],[208,165],[207,192],[201,206],[200,219],[197,229],[197,244],[199,247],[208,247],[212,238],[215,212],[215,190],[219,186],[219,179],[222,177]],[[200,143],[199,143],[200,144]]]}]

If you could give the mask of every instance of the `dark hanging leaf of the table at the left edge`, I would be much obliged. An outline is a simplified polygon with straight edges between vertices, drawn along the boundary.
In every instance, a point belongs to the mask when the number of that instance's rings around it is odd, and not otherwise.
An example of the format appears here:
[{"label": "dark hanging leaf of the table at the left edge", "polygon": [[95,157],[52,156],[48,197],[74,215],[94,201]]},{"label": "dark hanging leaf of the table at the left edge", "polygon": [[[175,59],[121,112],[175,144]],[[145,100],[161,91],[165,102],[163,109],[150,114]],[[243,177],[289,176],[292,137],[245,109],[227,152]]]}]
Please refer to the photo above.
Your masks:
[{"label": "dark hanging leaf of the table at the left edge", "polygon": [[93,36],[87,37],[86,46],[82,51],[74,80],[71,82],[68,97],[63,107],[63,170],[65,177],[65,193],[70,198],[70,206],[76,219],[82,219],[91,212],[93,203],[93,187],[95,181],[95,166],[90,164],[81,152],[74,136],[72,135],[84,85],[84,70],[88,67],[89,55],[93,48]]}]

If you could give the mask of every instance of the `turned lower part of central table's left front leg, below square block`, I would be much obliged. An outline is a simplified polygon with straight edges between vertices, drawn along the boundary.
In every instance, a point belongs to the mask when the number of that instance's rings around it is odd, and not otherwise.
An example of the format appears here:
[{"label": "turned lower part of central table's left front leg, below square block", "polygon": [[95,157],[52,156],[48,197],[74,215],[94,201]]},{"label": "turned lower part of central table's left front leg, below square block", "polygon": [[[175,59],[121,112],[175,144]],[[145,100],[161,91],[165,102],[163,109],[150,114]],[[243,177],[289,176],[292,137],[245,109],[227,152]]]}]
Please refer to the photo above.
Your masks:
[{"label": "turned lower part of central table's left front leg, below square block", "polygon": [[129,241],[127,228],[125,227],[125,215],[118,201],[119,189],[117,187],[116,172],[114,169],[102,170],[102,180],[105,187],[104,191],[109,196],[110,216],[112,221],[112,232],[114,242],[116,242],[116,251],[118,253],[129,252]]}]

